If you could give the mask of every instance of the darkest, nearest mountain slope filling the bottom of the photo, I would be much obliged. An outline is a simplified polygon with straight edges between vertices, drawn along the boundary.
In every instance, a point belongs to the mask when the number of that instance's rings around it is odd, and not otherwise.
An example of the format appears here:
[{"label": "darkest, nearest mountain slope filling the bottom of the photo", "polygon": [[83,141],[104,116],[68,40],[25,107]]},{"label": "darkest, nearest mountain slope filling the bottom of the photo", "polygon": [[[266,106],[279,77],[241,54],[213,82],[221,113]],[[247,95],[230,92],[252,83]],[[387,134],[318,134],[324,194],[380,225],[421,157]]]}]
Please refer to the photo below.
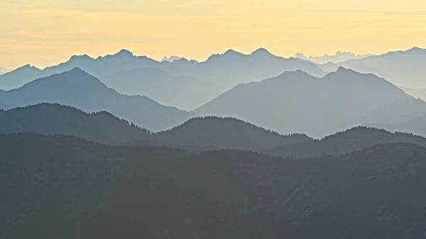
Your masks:
[{"label": "darkest, nearest mountain slope filling the bottom of the photo", "polygon": [[0,233],[14,238],[422,238],[426,149],[343,157],[188,155],[0,135]]}]

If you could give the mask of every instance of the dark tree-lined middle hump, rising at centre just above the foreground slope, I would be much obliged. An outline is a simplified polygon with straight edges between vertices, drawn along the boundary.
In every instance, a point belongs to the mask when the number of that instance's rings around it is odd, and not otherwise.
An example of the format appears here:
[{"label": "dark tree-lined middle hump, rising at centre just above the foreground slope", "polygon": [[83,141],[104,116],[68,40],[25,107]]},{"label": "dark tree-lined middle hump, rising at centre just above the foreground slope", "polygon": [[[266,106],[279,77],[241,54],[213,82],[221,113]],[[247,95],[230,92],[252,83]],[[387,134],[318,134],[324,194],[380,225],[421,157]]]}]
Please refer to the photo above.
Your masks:
[{"label": "dark tree-lined middle hump, rising at centre just above the foreground slope", "polygon": [[263,150],[312,140],[307,135],[280,135],[236,118],[192,118],[181,126],[159,132],[158,142],[190,151],[218,149]]}]

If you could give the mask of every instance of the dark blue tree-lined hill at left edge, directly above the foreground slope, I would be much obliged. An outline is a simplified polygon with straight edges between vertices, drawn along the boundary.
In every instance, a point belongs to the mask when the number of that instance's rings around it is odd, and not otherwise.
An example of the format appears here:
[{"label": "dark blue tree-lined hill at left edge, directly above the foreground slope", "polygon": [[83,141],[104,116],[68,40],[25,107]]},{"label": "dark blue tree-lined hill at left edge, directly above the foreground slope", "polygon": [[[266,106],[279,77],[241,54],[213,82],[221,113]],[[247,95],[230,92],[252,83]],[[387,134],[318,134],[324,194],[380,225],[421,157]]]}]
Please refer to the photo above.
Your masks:
[{"label": "dark blue tree-lined hill at left edge, directly above the foreground slope", "polygon": [[148,130],[102,111],[85,113],[60,104],[38,104],[0,111],[0,133],[74,135],[98,143],[121,144],[153,140]]}]

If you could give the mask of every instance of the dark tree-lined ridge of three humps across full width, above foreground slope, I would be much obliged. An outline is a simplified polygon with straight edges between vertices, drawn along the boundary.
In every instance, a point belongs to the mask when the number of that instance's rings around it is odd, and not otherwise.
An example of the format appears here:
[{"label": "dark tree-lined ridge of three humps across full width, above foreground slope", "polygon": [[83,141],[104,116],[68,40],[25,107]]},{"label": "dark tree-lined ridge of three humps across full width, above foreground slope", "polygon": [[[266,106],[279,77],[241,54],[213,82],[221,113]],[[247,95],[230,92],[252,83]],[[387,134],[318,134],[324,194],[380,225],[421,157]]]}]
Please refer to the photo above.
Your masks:
[{"label": "dark tree-lined ridge of three humps across full width, above foreground slope", "polygon": [[[410,130],[425,132],[425,118],[410,123]],[[401,129],[391,126],[378,126]],[[59,104],[38,104],[0,111],[0,133],[74,135],[109,145],[167,146],[189,152],[210,150],[252,150],[282,157],[344,155],[379,143],[413,143],[426,147],[426,139],[409,133],[356,127],[321,140],[307,135],[280,135],[236,118],[191,118],[170,130],[152,133],[107,112],[85,113]]]}]

